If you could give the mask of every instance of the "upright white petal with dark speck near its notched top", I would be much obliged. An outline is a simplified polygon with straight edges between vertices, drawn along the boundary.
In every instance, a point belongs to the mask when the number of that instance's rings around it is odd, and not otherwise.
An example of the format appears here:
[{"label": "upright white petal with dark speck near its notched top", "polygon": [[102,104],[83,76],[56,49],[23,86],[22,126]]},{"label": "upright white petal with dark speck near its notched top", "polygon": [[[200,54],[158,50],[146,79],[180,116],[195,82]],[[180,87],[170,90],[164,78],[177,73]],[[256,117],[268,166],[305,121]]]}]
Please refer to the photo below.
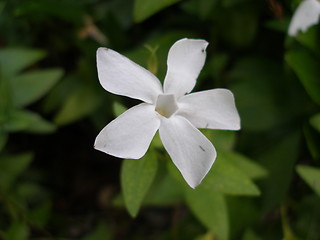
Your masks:
[{"label": "upright white petal with dark speck near its notched top", "polygon": [[169,50],[164,92],[177,97],[191,92],[206,59],[208,42],[201,39],[181,39]]}]

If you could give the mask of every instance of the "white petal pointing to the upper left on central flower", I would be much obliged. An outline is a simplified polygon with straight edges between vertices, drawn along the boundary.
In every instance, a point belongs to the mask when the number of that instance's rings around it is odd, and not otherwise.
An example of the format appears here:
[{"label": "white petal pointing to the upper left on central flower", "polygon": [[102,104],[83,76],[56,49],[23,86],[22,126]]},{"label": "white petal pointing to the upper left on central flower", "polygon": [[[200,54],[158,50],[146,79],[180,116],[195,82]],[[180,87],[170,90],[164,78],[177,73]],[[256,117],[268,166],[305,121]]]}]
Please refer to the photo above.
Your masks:
[{"label": "white petal pointing to the upper left on central flower", "polygon": [[149,71],[108,48],[97,50],[100,83],[107,91],[147,103],[162,93],[160,81]]}]

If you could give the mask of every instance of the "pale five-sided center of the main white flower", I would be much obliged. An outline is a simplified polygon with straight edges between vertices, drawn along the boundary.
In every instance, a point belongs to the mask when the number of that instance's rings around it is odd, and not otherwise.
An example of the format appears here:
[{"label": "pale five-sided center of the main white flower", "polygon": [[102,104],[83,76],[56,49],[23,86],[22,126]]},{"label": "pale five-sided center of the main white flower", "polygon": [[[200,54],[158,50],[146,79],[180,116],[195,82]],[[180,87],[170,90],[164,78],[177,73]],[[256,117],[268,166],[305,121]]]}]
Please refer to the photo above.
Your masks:
[{"label": "pale five-sided center of the main white flower", "polygon": [[169,118],[178,110],[178,105],[173,94],[158,96],[155,110],[162,116]]}]

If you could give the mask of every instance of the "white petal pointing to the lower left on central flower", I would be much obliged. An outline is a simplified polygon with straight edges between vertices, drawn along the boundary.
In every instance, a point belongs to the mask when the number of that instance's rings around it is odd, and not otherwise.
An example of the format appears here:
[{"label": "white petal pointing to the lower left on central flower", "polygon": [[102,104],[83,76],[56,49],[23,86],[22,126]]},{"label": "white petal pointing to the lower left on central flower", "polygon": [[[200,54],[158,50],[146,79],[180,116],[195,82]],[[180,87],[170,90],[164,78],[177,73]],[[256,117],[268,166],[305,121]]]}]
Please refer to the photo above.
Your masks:
[{"label": "white petal pointing to the lower left on central flower", "polygon": [[141,103],[105,126],[97,136],[94,148],[120,158],[141,158],[159,125],[154,106]]}]

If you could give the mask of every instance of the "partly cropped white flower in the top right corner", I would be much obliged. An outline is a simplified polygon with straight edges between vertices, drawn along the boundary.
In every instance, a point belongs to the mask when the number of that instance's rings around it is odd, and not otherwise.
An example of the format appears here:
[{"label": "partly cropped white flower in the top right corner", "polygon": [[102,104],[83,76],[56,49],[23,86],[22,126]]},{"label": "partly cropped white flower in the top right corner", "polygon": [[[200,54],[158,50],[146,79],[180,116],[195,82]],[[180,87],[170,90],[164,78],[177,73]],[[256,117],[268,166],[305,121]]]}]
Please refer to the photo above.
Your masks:
[{"label": "partly cropped white flower in the top right corner", "polygon": [[303,0],[293,14],[288,33],[295,36],[299,31],[305,32],[309,27],[319,22],[320,2]]}]

